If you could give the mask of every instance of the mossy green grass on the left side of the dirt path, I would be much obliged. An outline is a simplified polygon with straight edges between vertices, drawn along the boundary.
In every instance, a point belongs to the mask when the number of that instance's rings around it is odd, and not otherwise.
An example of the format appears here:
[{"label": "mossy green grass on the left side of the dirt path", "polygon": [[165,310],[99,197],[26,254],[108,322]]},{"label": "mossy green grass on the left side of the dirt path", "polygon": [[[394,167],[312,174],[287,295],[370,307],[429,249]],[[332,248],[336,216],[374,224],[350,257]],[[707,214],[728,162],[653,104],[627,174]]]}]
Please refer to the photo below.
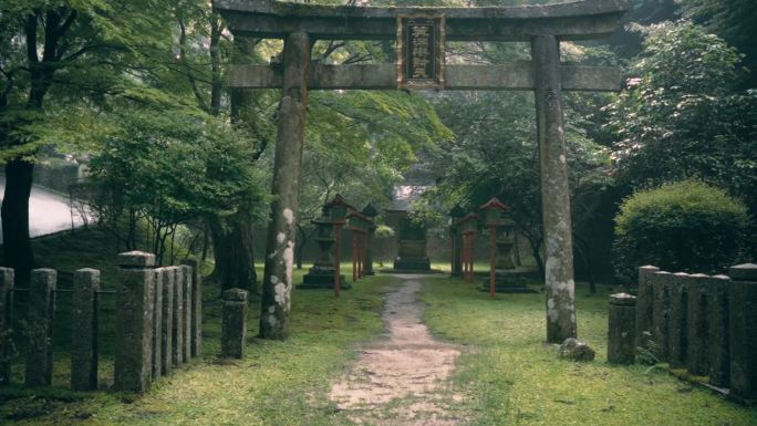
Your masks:
[{"label": "mossy green grass on the left side of the dirt path", "polygon": [[[82,251],[75,257],[49,249],[55,254],[40,256],[40,259],[45,266],[62,270],[92,266],[107,268],[115,260],[111,259],[113,253],[106,253],[93,256],[87,261],[87,253],[97,248],[79,248]],[[43,252],[38,250],[38,254]],[[350,267],[343,267],[342,271],[351,277]],[[307,268],[295,271],[294,282],[301,282],[305,272]],[[262,277],[262,270],[259,273]],[[396,282],[392,277],[366,278],[342,292],[339,300],[331,291],[294,290],[291,337],[286,342],[255,337],[259,299],[253,295],[247,354],[238,361],[216,357],[220,349],[219,289],[205,285],[203,359],[155,382],[143,396],[68,389],[71,330],[68,315],[62,313],[69,304],[62,303],[55,325],[53,386],[21,387],[18,383],[23,378],[23,365],[17,363],[13,368],[17,385],[0,389],[0,424],[346,425],[349,422],[329,401],[330,383],[354,356],[356,344],[383,331],[384,293]],[[112,323],[112,310],[101,314],[105,315],[103,322]],[[112,351],[105,351],[101,364],[102,382],[106,387],[112,380]]]}]

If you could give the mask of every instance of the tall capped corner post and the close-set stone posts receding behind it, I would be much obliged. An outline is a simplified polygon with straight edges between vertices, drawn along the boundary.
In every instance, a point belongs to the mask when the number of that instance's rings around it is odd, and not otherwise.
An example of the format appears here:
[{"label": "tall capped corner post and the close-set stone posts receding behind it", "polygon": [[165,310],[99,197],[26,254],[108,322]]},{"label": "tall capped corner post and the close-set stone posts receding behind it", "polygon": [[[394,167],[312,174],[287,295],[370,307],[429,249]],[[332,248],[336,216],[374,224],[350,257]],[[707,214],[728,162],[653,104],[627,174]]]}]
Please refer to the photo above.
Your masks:
[{"label": "tall capped corner post and the close-set stone posts receding behind it", "polygon": [[200,355],[200,274],[195,261],[155,269],[141,251],[118,254],[118,264],[114,387],[141,393]]}]

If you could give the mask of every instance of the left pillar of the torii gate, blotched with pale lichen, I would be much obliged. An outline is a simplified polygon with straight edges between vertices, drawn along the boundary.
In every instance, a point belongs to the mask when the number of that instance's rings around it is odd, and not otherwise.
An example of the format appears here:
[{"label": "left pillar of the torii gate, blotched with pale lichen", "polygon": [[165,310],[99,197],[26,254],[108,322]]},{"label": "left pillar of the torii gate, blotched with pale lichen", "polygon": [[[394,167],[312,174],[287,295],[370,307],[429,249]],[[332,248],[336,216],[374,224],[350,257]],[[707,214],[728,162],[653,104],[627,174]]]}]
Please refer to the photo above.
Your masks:
[{"label": "left pillar of the torii gate, blotched with pale lichen", "polygon": [[271,190],[273,201],[260,309],[260,336],[263,339],[283,340],[289,335],[310,50],[310,35],[304,32],[291,33],[284,41],[284,75]]}]

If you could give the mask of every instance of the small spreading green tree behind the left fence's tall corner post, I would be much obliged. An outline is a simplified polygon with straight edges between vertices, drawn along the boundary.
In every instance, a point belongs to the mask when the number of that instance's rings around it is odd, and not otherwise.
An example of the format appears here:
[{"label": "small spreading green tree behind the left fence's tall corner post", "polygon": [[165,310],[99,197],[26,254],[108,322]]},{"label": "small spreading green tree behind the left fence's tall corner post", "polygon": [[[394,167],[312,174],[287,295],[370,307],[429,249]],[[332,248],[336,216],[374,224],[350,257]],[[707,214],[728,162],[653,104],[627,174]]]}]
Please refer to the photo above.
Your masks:
[{"label": "small spreading green tree behind the left fence's tall corner post", "polygon": [[90,165],[101,222],[115,227],[127,211],[146,219],[159,257],[179,224],[240,211],[265,217],[265,176],[250,162],[247,135],[182,110],[125,111],[113,120],[117,126],[101,136]]}]

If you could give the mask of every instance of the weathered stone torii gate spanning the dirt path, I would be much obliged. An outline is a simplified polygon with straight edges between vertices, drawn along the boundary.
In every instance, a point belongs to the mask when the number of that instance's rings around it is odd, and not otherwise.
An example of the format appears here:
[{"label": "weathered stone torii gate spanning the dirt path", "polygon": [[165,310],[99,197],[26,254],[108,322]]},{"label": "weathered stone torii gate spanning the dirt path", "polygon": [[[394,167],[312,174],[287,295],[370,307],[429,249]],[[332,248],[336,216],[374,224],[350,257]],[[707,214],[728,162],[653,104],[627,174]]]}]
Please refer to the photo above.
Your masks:
[{"label": "weathered stone torii gate spanning the dirt path", "polygon": [[535,91],[546,254],[547,341],[575,336],[573,252],[562,91],[618,91],[614,67],[560,63],[560,41],[614,32],[631,0],[485,8],[378,8],[271,0],[215,0],[237,38],[283,39],[282,66],[234,65],[234,89],[280,87],[278,138],[260,336],[288,334],[295,214],[299,207],[308,90],[392,90],[396,64],[311,63],[314,40],[394,40],[401,17],[443,17],[447,41],[530,42],[530,63],[446,65],[444,90]]}]

